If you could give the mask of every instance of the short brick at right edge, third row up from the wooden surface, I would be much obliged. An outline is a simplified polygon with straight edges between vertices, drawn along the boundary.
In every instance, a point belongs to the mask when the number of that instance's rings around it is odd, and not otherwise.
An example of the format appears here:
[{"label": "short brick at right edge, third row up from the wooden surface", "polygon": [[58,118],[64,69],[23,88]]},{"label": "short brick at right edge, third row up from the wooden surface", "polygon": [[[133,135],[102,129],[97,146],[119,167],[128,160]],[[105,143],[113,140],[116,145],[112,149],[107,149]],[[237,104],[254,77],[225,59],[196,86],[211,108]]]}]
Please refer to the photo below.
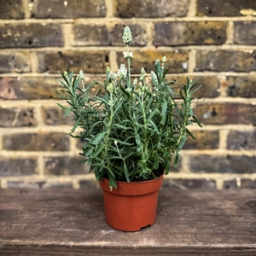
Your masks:
[{"label": "short brick at right edge, third row up from the wooden surface", "polygon": [[255,149],[256,131],[230,131],[227,138],[228,149]]}]

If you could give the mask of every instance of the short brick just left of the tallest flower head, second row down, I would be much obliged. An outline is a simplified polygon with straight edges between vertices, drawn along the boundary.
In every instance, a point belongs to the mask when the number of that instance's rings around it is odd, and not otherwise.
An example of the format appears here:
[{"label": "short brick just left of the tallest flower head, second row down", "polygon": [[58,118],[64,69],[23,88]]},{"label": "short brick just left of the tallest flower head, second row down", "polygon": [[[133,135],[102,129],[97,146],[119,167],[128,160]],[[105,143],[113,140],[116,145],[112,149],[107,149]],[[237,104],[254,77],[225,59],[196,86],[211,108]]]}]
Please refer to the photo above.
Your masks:
[{"label": "short brick just left of the tallest flower head, second row down", "polygon": [[73,46],[109,45],[110,38],[106,25],[73,25]]}]

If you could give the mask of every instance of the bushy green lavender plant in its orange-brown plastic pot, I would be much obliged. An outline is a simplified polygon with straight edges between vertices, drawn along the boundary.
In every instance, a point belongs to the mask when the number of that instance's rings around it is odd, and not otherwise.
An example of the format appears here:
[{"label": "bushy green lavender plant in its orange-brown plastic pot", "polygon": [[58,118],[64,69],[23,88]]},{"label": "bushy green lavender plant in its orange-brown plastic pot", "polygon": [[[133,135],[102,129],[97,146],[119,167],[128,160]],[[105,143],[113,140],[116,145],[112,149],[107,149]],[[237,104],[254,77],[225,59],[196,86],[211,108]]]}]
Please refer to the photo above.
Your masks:
[{"label": "bushy green lavender plant in its orange-brown plastic pot", "polygon": [[[106,220],[118,230],[140,230],[154,224],[158,190],[171,164],[177,164],[179,152],[189,137],[187,128],[196,123],[191,103],[199,87],[187,79],[175,93],[168,81],[168,63],[164,56],[155,61],[150,75],[141,69],[139,78],[131,77],[131,30],[125,26],[123,41],[127,69],[118,73],[107,68],[104,84],[84,85],[84,73],[62,73],[62,96],[72,112],[75,124],[70,135],[84,142],[82,163],[90,165],[103,189]],[[90,96],[97,84],[101,90]],[[201,125],[200,125],[201,126]],[[73,135],[77,128],[79,134]]]}]

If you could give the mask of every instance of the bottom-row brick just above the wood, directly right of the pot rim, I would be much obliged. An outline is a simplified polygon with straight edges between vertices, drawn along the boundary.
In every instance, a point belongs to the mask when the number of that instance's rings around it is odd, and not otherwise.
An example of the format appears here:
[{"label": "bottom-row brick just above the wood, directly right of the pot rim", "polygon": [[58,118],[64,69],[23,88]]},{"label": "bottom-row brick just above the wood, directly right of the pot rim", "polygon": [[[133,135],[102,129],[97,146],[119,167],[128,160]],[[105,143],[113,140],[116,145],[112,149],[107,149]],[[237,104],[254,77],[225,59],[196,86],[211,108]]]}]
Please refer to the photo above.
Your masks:
[{"label": "bottom-row brick just above the wood, directly right of the pot rim", "polygon": [[163,189],[172,188],[172,189],[216,189],[215,181],[212,179],[203,179],[203,178],[177,178],[169,179],[165,178],[163,181]]}]

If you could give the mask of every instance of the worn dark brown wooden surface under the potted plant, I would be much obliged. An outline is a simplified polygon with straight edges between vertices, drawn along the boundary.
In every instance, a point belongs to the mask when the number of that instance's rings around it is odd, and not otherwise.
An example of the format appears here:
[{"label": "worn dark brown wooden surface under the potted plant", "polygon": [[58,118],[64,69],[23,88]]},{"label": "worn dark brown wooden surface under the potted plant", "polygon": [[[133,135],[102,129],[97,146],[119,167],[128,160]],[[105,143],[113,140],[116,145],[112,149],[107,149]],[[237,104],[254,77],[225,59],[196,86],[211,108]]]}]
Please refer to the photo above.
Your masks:
[{"label": "worn dark brown wooden surface under the potted plant", "polygon": [[157,219],[113,230],[101,189],[0,189],[0,255],[256,255],[256,192],[161,189]]}]

